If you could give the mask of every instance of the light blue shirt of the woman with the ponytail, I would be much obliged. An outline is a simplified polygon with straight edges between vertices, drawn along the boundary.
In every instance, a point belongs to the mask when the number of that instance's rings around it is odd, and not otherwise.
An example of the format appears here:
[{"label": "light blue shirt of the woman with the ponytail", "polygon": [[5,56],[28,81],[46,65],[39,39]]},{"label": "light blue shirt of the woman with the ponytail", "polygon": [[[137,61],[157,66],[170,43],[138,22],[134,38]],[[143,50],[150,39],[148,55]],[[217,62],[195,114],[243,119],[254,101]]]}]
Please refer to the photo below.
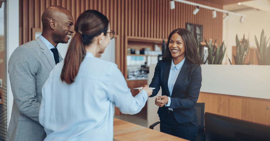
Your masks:
[{"label": "light blue shirt of the woman with the ponytail", "polygon": [[87,52],[72,84],[60,79],[63,63],[53,68],[42,88],[39,122],[45,141],[112,141],[114,105],[123,114],[137,114],[147,101],[144,90],[132,96],[115,63]]}]

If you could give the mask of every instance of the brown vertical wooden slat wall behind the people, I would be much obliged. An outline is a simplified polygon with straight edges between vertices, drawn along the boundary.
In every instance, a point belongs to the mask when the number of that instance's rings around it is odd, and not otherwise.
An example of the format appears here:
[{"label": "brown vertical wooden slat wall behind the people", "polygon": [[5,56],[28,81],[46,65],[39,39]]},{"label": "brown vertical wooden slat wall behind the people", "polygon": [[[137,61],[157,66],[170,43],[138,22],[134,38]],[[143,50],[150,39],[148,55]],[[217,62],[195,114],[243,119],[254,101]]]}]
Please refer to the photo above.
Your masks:
[{"label": "brown vertical wooden slat wall behind the people", "polygon": [[[222,9],[222,5],[203,0],[188,0],[199,4]],[[117,63],[124,72],[125,36],[164,38],[177,28],[185,28],[185,23],[203,25],[203,36],[222,39],[222,13],[212,18],[212,10],[200,8],[193,15],[195,6],[175,2],[176,8],[170,9],[170,0],[20,0],[19,1],[19,43],[31,40],[31,28],[42,28],[41,15],[50,5],[67,8],[74,21],[85,10],[95,9],[106,15],[111,29],[119,36],[120,62]]]}]

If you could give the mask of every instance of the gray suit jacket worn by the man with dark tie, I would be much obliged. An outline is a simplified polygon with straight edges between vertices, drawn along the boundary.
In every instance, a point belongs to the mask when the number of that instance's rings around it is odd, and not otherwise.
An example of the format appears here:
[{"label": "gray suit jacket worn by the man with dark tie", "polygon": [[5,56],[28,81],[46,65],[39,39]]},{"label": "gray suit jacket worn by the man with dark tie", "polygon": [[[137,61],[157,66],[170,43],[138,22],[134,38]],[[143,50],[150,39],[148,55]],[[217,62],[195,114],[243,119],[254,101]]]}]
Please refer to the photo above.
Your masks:
[{"label": "gray suit jacket worn by the man with dark tie", "polygon": [[[60,61],[63,58],[60,56]],[[8,73],[14,97],[7,141],[43,141],[44,127],[38,113],[42,99],[41,89],[55,66],[45,43],[38,37],[15,49]]]}]

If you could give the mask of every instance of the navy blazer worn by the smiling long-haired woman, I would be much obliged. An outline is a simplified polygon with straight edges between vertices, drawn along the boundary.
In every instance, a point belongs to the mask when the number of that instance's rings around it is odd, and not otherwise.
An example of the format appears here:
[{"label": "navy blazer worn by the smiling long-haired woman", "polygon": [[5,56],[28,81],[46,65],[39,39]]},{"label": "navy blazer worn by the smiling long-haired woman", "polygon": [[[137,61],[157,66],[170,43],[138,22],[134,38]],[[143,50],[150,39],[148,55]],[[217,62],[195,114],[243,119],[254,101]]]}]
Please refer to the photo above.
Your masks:
[{"label": "navy blazer worn by the smiling long-haired woman", "polygon": [[171,97],[171,105],[170,107],[164,105],[158,108],[159,118],[163,119],[168,108],[173,108],[174,116],[178,123],[191,122],[197,117],[195,104],[199,97],[202,82],[201,67],[197,64],[189,63],[185,59],[170,96],[168,79],[171,62],[171,60],[158,61],[154,77],[149,85],[149,87],[156,89],[153,90],[150,97],[156,96],[161,87],[162,95]]}]

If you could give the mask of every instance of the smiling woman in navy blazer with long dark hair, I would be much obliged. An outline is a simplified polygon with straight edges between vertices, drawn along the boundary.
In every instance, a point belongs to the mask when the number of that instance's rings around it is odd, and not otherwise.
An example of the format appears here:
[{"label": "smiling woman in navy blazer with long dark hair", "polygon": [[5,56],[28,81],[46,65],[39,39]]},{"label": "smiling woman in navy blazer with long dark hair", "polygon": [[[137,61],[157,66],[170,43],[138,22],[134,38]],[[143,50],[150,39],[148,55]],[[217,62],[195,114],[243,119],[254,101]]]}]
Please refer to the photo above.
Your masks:
[{"label": "smiling woman in navy blazer with long dark hair", "polygon": [[[188,140],[198,132],[196,102],[201,88],[201,64],[197,45],[191,32],[179,28],[168,37],[163,60],[158,61],[149,87],[156,88],[150,97],[156,98],[160,131]],[[147,86],[147,85],[145,85]]]}]

